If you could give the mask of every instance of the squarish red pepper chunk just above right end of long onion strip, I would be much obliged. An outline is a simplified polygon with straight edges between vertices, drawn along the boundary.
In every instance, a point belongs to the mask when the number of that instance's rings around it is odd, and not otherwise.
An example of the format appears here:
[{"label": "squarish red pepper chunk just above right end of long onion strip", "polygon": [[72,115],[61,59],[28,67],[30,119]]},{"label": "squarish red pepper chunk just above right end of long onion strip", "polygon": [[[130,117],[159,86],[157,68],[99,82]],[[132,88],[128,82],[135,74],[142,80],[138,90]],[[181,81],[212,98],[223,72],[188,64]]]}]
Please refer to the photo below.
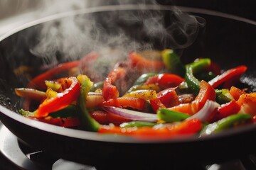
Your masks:
[{"label": "squarish red pepper chunk just above right end of long onion strip", "polygon": [[166,106],[166,108],[171,108],[173,106],[177,106],[180,102],[178,101],[178,95],[175,91],[176,88],[171,87],[169,89],[165,89],[156,94],[156,98],[159,98],[161,103]]}]

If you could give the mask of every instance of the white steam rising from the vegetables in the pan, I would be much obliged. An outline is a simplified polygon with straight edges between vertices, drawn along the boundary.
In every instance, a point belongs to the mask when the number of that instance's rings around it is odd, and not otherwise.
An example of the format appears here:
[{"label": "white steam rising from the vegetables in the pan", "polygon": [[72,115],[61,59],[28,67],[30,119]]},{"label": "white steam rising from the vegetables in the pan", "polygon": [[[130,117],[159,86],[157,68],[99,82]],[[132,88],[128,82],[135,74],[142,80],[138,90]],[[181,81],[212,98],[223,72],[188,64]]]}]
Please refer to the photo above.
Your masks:
[{"label": "white steam rising from the vegetables in the pan", "polygon": [[[134,3],[138,6],[156,4],[155,1]],[[44,4],[48,8],[43,12],[50,14],[55,8],[55,13],[59,13],[112,4],[131,4],[131,1],[51,1],[51,4]],[[45,23],[31,53],[51,67],[59,62],[79,60],[92,51],[100,52],[104,62],[93,69],[105,74],[115,63],[126,59],[131,51],[189,47],[204,24],[203,18],[188,15],[178,8],[171,11],[160,8],[115,10],[70,16]]]}]

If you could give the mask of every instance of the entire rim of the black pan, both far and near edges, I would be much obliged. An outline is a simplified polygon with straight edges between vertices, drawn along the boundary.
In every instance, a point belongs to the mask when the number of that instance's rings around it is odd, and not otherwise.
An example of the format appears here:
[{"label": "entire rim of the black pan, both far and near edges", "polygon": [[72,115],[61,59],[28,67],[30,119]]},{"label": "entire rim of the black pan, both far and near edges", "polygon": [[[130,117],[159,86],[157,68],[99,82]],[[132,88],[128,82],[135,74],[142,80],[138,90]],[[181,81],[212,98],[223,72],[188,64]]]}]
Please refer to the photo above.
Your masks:
[{"label": "entire rim of the black pan, both far and near edges", "polygon": [[[234,16],[230,15],[227,13],[221,13],[218,11],[211,11],[208,9],[203,9],[203,8],[191,8],[191,7],[184,7],[184,6],[161,6],[161,5],[143,5],[143,6],[138,6],[138,5],[133,5],[133,4],[128,4],[128,5],[114,5],[114,6],[98,6],[98,7],[93,7],[93,8],[84,8],[80,10],[75,10],[75,11],[68,11],[65,13],[57,13],[55,15],[51,16],[46,16],[44,18],[39,18],[36,21],[31,21],[26,24],[23,24],[22,26],[19,26],[18,28],[15,28],[13,30],[10,30],[8,33],[5,33],[0,37],[0,42],[6,38],[9,38],[11,35],[18,33],[21,30],[24,30],[26,28],[30,28],[32,26],[36,26],[41,23],[45,23],[48,21],[53,21],[57,20],[60,18],[65,18],[68,16],[75,16],[79,14],[86,14],[86,13],[96,13],[96,12],[105,12],[105,11],[128,11],[128,10],[172,10],[174,8],[179,8],[181,11],[184,12],[191,12],[191,13],[201,13],[201,14],[206,14],[210,16],[219,16],[223,18],[228,18],[232,19],[235,21],[242,21],[244,23],[249,23],[254,26],[256,26],[256,22],[252,21],[247,18],[242,18],[240,16]],[[46,132],[51,132],[56,135],[63,135],[66,137],[73,137],[73,138],[78,138],[81,140],[92,140],[92,141],[98,141],[98,142],[118,142],[118,143],[154,143],[154,144],[159,144],[159,143],[181,143],[181,142],[199,142],[199,141],[205,141],[205,140],[213,140],[213,139],[218,139],[218,138],[223,138],[223,137],[229,137],[230,135],[239,135],[242,132],[246,132],[249,130],[254,130],[256,125],[247,125],[245,127],[236,129],[236,130],[225,130],[225,132],[219,132],[213,135],[209,135],[206,137],[198,138],[198,137],[175,137],[171,138],[170,140],[138,140],[133,137],[129,136],[124,136],[124,135],[103,135],[103,134],[98,134],[97,132],[87,132],[84,130],[74,130],[74,129],[68,129],[68,128],[62,128],[58,127],[56,125],[50,125],[47,123],[41,123],[36,120],[31,120],[28,118],[24,118],[22,115],[18,115],[14,111],[10,111],[8,108],[5,108],[4,106],[0,105],[0,112],[3,113],[4,115],[8,116],[9,118],[12,118],[19,123],[26,124],[32,128],[37,128]]]}]

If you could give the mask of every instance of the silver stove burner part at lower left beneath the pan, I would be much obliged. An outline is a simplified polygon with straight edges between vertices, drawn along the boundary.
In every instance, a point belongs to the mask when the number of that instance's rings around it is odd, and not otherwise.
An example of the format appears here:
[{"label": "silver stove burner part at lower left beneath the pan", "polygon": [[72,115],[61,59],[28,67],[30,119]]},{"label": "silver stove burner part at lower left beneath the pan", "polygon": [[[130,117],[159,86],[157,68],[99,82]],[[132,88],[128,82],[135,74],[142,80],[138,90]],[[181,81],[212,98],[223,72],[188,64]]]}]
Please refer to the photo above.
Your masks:
[{"label": "silver stove burner part at lower left beneath the pan", "polygon": [[[2,155],[4,157],[2,157]],[[0,159],[8,159],[11,164],[4,169],[26,169],[26,170],[96,170],[93,166],[69,162],[65,159],[58,159],[44,154],[42,151],[34,150],[17,140],[17,137],[12,134],[4,125],[0,123]],[[1,167],[0,161],[0,169]],[[6,166],[6,165],[5,165]],[[10,167],[9,167],[10,166]]]}]

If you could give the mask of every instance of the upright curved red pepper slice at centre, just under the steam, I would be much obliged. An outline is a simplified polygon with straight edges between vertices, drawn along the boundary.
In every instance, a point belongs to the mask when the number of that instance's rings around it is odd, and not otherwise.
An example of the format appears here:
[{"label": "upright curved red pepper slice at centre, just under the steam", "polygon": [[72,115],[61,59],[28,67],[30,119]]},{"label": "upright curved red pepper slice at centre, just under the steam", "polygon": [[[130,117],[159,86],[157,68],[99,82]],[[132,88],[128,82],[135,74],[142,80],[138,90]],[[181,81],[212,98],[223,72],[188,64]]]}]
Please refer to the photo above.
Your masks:
[{"label": "upright curved red pepper slice at centre, just under the steam", "polygon": [[108,74],[103,87],[102,87],[102,96],[105,101],[109,101],[112,98],[117,98],[119,96],[119,91],[117,86],[114,86],[114,81],[125,76],[126,70],[122,67],[117,67],[110,74]]}]

